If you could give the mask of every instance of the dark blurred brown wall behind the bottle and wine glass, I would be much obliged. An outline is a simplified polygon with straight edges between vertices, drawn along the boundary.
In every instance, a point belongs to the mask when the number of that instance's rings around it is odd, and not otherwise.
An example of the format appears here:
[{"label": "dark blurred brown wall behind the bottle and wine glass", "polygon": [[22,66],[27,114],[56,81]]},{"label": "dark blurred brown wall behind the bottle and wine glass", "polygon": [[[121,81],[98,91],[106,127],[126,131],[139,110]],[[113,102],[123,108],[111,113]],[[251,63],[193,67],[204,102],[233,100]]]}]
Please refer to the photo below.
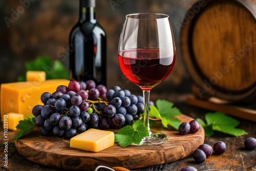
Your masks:
[{"label": "dark blurred brown wall behind the bottle and wine glass", "polygon": [[[176,40],[177,62],[173,73],[153,91],[189,93],[192,81],[180,56],[179,26],[186,11],[195,2],[196,0],[96,0],[96,18],[108,36],[108,88],[117,85],[123,89],[141,91],[122,75],[119,68],[119,36],[126,14],[156,12],[170,16]],[[68,58],[59,58],[58,54],[67,50],[69,33],[78,20],[78,7],[79,0],[1,0],[0,83],[15,82],[18,75],[24,74],[25,62],[36,56],[49,55],[52,59],[59,59],[68,69]],[[4,19],[7,17],[11,18],[8,23]]]}]

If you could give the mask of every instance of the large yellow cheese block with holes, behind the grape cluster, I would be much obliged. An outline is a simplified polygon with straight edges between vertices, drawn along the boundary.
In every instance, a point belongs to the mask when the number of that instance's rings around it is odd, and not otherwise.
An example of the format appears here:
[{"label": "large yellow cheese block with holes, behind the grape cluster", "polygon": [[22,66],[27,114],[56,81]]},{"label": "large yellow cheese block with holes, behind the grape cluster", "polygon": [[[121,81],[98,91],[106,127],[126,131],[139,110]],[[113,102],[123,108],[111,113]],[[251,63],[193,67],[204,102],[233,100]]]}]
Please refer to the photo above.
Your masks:
[{"label": "large yellow cheese block with holes, behind the grape cluster", "polygon": [[1,118],[8,113],[32,115],[32,109],[42,104],[41,94],[54,93],[58,86],[68,86],[67,79],[49,79],[44,82],[13,82],[1,84]]}]

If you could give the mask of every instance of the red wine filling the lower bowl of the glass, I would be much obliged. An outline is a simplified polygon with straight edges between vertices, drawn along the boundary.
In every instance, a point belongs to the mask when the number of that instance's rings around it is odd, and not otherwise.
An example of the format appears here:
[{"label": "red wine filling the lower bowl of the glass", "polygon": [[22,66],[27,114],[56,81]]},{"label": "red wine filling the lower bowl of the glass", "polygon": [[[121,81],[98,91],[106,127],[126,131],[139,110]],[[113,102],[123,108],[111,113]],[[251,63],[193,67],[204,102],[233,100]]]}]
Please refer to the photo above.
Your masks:
[{"label": "red wine filling the lower bowl of the glass", "polygon": [[159,49],[134,49],[120,52],[123,74],[142,90],[151,90],[173,71],[175,55],[160,57]]}]

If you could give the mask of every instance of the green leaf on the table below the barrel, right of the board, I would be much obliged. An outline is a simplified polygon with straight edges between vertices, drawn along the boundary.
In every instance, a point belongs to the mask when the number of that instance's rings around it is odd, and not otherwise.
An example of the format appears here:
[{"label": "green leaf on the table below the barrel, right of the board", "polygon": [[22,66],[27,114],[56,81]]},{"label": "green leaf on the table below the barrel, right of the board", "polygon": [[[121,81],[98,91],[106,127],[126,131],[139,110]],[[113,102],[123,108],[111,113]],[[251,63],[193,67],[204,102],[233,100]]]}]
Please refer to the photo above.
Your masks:
[{"label": "green leaf on the table below the barrel, right of the board", "polygon": [[205,120],[206,123],[202,119],[197,118],[197,121],[203,126],[205,136],[207,137],[212,136],[214,131],[219,131],[236,137],[247,134],[244,130],[236,128],[236,126],[239,125],[238,120],[227,116],[224,113],[207,113],[205,114]]}]

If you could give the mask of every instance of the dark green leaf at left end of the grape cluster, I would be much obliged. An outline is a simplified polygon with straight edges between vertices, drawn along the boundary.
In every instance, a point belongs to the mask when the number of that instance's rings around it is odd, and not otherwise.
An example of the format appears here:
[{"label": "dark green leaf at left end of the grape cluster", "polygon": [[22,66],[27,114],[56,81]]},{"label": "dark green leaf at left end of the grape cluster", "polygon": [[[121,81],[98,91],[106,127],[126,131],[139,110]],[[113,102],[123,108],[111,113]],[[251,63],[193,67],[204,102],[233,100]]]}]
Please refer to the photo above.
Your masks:
[{"label": "dark green leaf at left end of the grape cluster", "polygon": [[34,116],[29,116],[28,119],[20,120],[18,122],[18,125],[16,126],[16,128],[19,129],[20,131],[15,135],[14,142],[18,140],[20,137],[33,131],[35,127],[36,126]]}]

